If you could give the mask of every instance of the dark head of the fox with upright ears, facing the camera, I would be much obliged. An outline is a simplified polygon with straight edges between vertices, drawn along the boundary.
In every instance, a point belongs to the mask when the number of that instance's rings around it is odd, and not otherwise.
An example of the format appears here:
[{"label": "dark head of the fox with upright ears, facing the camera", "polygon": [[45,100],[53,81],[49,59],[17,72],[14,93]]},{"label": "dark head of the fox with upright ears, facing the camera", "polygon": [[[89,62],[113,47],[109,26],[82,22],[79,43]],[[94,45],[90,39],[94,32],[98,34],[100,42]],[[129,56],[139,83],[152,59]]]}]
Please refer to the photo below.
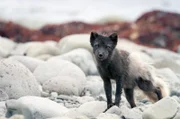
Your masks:
[{"label": "dark head of the fox with upright ears, facing the camera", "polygon": [[116,33],[110,36],[102,36],[96,32],[91,32],[90,43],[97,60],[103,61],[109,58],[117,45],[118,36]]}]

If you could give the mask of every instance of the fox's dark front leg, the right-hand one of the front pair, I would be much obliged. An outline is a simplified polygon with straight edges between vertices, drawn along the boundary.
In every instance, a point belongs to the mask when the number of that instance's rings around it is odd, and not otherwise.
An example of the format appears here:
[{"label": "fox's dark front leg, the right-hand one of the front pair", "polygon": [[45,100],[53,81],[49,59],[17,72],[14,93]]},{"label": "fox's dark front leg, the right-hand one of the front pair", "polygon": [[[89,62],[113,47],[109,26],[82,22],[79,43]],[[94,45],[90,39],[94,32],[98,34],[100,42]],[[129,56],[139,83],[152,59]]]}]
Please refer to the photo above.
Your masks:
[{"label": "fox's dark front leg, the right-hand one of the front pair", "polygon": [[123,80],[121,78],[116,79],[116,94],[115,94],[115,105],[119,107],[122,94]]}]

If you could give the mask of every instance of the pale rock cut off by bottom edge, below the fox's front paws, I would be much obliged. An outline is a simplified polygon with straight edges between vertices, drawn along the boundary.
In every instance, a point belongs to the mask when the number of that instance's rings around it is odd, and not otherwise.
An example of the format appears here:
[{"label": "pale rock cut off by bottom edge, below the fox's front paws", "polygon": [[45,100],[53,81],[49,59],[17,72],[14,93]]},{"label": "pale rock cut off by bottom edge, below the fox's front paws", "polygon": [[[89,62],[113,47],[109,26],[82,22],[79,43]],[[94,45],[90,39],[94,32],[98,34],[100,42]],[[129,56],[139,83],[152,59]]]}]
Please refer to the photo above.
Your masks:
[{"label": "pale rock cut off by bottom edge, below the fox's front paws", "polygon": [[115,114],[101,113],[96,119],[120,119],[120,117]]}]

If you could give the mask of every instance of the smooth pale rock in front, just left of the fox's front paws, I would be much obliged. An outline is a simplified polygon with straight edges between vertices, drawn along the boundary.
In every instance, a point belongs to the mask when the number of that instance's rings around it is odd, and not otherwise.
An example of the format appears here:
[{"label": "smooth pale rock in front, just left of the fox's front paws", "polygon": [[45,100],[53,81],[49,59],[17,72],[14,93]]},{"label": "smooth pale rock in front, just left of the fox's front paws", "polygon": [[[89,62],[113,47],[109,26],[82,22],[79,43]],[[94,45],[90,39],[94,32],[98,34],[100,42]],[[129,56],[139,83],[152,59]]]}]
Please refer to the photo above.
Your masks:
[{"label": "smooth pale rock in front, just left of the fox's front paws", "polygon": [[106,106],[104,101],[91,101],[82,104],[77,111],[88,118],[95,118],[106,109]]}]

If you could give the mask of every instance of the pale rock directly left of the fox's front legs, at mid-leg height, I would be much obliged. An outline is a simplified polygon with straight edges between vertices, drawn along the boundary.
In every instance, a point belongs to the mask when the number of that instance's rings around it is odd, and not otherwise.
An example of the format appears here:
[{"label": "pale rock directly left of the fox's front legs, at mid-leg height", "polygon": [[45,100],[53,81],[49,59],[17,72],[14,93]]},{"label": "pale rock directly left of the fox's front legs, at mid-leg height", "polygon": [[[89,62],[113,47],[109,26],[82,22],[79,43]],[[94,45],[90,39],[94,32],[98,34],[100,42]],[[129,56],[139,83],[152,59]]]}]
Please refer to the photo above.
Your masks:
[{"label": "pale rock directly left of the fox's front legs, at mid-leg height", "polygon": [[92,96],[99,96],[104,93],[104,85],[100,76],[88,76],[86,83],[86,91]]}]

